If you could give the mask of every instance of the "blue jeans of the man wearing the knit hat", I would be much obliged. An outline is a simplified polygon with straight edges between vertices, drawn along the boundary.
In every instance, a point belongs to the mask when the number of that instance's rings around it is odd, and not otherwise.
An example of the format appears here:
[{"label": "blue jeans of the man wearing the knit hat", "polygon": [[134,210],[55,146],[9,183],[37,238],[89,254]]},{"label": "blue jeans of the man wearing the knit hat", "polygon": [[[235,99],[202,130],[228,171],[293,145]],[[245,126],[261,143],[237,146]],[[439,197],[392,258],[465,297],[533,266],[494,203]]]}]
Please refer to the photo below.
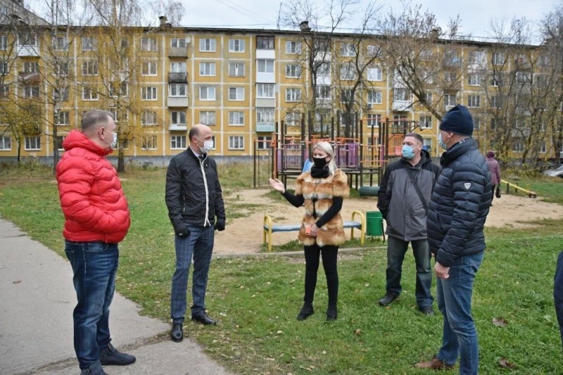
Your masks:
[{"label": "blue jeans of the man wearing the knit hat", "polygon": [[438,309],[444,316],[442,348],[438,359],[454,365],[460,357],[460,374],[477,374],[479,342],[471,315],[473,281],[484,252],[457,258],[448,279],[436,278]]}]

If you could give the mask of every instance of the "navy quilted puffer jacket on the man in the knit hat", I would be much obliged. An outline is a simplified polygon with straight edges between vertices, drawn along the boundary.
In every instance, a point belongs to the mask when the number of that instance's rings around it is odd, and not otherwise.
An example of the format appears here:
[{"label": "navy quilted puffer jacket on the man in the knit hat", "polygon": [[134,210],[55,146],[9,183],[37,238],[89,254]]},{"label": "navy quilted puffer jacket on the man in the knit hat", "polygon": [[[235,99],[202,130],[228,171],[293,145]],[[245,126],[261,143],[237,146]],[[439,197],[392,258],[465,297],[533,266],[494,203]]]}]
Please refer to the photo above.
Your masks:
[{"label": "navy quilted puffer jacket on the man in the knit hat", "polygon": [[436,262],[450,267],[462,255],[485,250],[483,227],[493,189],[488,165],[472,138],[448,148],[440,163],[426,230]]}]

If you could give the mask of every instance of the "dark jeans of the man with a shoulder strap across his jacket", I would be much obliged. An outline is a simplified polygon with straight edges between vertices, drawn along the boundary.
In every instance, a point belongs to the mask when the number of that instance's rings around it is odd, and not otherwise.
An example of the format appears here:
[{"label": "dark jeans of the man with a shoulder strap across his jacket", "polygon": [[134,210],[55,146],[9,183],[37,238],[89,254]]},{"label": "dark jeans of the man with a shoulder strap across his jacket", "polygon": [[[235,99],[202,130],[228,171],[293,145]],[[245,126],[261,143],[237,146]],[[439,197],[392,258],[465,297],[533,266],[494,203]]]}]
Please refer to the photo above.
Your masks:
[{"label": "dark jeans of the man with a shoulder strap across his jacket", "polygon": [[[412,246],[412,254],[415,255],[415,263],[417,265],[417,284],[415,295],[419,308],[429,307],[434,302],[434,298],[430,293],[432,285],[432,270],[430,267],[430,250],[428,241],[415,240],[410,241]],[[400,278],[403,273],[403,260],[409,241],[403,241],[396,237],[389,236],[387,242],[387,285],[386,291],[389,293],[400,294],[403,290],[400,286]]]}]

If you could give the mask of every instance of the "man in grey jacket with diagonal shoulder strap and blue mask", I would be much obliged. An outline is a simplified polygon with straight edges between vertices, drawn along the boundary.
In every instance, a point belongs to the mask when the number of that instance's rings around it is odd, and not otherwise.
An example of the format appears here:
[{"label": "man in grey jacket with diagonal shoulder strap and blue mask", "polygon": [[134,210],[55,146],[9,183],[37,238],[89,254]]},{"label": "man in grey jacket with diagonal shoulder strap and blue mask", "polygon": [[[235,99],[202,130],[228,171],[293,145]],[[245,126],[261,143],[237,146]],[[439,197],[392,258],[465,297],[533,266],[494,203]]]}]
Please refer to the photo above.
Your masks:
[{"label": "man in grey jacket with diagonal shoulder strap and blue mask", "polygon": [[387,222],[388,236],[386,294],[379,300],[379,305],[388,306],[401,293],[403,260],[410,243],[417,265],[415,295],[418,308],[424,314],[434,314],[426,211],[439,171],[429,153],[422,148],[422,136],[417,133],[405,135],[400,160],[385,170],[377,194],[377,208]]}]

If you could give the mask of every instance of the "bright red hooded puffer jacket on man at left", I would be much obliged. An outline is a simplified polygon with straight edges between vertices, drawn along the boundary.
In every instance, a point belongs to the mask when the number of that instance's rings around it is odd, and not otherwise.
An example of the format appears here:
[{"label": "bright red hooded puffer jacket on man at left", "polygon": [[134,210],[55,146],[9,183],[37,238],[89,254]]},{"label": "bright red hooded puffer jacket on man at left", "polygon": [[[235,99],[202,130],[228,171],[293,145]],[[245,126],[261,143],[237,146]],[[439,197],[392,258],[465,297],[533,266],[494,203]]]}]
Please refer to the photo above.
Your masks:
[{"label": "bright red hooded puffer jacket on man at left", "polygon": [[118,243],[131,219],[121,182],[104,149],[72,130],[63,141],[57,165],[58,195],[65,215],[63,236],[69,241]]}]

